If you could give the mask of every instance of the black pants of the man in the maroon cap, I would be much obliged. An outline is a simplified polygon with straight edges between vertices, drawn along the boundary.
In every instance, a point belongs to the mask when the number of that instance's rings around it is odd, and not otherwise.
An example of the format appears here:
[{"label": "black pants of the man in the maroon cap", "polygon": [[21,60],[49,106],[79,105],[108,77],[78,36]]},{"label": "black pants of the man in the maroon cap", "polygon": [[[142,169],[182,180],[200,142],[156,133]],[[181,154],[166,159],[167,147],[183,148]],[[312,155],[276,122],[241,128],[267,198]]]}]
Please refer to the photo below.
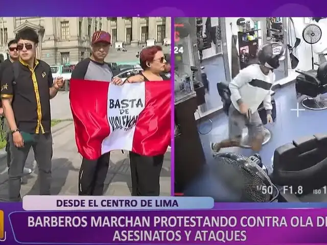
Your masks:
[{"label": "black pants of the man in the maroon cap", "polygon": [[98,160],[83,158],[78,179],[79,195],[102,195],[109,169],[110,152]]}]

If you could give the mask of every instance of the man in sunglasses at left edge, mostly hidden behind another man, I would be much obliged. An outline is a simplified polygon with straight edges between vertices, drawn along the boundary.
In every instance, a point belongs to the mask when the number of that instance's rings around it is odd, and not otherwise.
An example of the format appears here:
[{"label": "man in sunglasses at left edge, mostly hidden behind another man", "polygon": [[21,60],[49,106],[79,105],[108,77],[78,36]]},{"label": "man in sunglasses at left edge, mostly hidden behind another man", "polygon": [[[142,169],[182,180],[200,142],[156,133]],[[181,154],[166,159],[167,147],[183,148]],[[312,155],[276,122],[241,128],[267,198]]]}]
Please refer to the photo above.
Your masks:
[{"label": "man in sunglasses at left edge, mostly hidden behind another man", "polygon": [[[18,48],[17,48],[17,41],[15,39],[8,42],[8,54],[9,54],[8,59],[0,64],[0,79],[2,77],[2,72],[9,65],[11,65],[15,61],[18,61],[18,59],[19,59],[19,51],[18,51]],[[7,122],[6,118],[4,117],[5,113],[4,113],[4,108],[2,107],[2,104],[1,104],[1,107],[0,107],[0,116],[3,117],[2,118],[4,120],[4,124],[3,124],[4,129],[3,130],[6,131],[7,168],[8,168],[8,173],[9,173],[10,161],[11,161],[9,136],[10,136],[11,132],[10,132],[10,129],[9,129],[9,126],[8,126],[8,122]],[[24,172],[23,173],[24,173],[24,175],[29,175],[29,174],[32,173],[32,169],[28,168],[28,167],[24,167]]]}]

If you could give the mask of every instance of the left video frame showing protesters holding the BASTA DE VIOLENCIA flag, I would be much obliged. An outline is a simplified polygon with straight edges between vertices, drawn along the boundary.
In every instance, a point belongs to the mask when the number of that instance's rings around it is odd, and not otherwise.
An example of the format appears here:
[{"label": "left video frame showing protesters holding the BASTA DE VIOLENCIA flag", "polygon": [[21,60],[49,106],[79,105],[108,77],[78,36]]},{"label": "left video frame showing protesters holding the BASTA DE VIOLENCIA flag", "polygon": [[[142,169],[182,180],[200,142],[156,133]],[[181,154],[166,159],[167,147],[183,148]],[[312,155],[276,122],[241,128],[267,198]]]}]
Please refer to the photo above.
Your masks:
[{"label": "left video frame showing protesters holding the BASTA DE VIOLENCIA flag", "polygon": [[1,21],[0,200],[170,195],[171,18]]}]

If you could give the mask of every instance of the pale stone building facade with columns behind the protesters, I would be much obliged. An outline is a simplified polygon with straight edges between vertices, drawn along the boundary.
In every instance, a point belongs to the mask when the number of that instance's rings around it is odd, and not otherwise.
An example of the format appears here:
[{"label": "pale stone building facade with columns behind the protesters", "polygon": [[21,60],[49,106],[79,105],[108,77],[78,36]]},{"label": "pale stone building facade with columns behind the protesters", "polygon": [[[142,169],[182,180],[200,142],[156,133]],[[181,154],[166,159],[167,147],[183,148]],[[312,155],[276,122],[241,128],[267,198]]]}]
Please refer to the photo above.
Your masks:
[{"label": "pale stone building facade with columns behind the protesters", "polygon": [[171,38],[170,17],[1,17],[0,48],[24,28],[39,34],[38,58],[48,64],[76,64],[90,55],[90,38],[97,30],[111,34],[112,42],[143,45]]}]

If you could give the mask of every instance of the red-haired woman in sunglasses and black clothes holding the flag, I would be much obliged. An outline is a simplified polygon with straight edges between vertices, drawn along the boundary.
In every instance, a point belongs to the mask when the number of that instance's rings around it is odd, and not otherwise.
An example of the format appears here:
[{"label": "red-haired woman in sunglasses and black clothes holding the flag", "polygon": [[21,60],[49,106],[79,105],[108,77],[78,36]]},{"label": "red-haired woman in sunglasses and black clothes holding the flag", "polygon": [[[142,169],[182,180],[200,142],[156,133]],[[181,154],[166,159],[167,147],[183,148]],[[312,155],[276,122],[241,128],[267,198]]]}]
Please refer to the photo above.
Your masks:
[{"label": "red-haired woman in sunglasses and black clothes holding the flag", "polygon": [[[139,63],[143,71],[125,80],[127,83],[170,80],[165,73],[166,60],[161,46],[145,47]],[[116,83],[122,85],[122,83]],[[133,196],[158,196],[160,194],[160,172],[164,155],[141,156],[129,152]]]}]

